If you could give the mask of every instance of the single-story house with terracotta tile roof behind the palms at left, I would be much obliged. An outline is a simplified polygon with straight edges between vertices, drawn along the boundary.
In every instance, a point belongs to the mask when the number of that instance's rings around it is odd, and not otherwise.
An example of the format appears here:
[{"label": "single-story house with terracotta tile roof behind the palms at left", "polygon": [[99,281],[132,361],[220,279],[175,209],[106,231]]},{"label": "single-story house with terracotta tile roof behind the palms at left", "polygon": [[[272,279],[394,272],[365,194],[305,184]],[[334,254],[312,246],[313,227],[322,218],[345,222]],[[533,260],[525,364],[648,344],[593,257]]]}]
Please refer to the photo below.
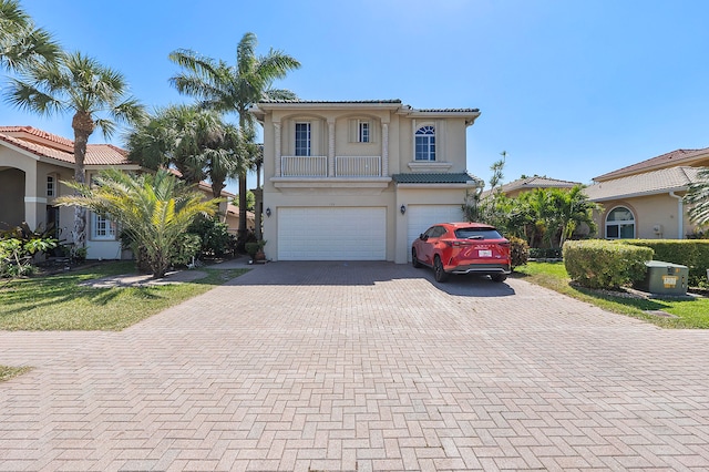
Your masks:
[{"label": "single-story house with terracotta tile roof behind the palms at left", "polygon": [[[127,152],[111,144],[89,144],[86,147],[86,182],[107,167],[144,171],[127,160]],[[30,228],[47,228],[54,224],[62,243],[73,240],[73,207],[54,206],[54,198],[73,192],[61,182],[74,178],[74,145],[54,134],[32,126],[0,126],[0,229],[27,222]],[[199,184],[205,197],[212,187]],[[233,194],[225,194],[233,198]],[[229,228],[238,228],[238,208],[222,205]],[[236,208],[236,209],[235,209]],[[251,215],[253,220],[253,215]],[[232,226],[233,225],[233,226]],[[130,257],[121,250],[116,225],[92,212],[86,217],[86,258],[120,259]]]}]

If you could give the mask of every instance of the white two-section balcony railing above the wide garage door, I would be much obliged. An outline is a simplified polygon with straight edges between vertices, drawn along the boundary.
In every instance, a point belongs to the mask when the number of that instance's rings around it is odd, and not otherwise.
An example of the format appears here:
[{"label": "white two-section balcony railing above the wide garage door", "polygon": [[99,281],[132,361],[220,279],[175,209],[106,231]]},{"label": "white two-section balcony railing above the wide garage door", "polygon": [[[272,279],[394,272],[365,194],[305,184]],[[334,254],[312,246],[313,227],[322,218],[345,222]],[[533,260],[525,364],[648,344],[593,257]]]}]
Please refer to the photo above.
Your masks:
[{"label": "white two-section balcony railing above the wide garage door", "polygon": [[[327,156],[281,156],[282,177],[327,177]],[[381,177],[381,156],[336,156],[336,177]]]}]

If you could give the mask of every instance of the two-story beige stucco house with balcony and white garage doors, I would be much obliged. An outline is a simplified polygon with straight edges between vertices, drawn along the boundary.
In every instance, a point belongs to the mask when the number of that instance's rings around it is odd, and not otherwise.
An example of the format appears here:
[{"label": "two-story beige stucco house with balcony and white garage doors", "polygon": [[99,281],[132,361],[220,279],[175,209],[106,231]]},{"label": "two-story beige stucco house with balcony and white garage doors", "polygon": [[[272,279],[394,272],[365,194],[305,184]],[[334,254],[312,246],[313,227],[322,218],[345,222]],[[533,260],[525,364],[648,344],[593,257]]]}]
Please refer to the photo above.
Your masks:
[{"label": "two-story beige stucco house with balcony and white garage doors", "polygon": [[410,259],[431,224],[460,220],[476,109],[399,100],[259,102],[264,239],[271,260]]}]

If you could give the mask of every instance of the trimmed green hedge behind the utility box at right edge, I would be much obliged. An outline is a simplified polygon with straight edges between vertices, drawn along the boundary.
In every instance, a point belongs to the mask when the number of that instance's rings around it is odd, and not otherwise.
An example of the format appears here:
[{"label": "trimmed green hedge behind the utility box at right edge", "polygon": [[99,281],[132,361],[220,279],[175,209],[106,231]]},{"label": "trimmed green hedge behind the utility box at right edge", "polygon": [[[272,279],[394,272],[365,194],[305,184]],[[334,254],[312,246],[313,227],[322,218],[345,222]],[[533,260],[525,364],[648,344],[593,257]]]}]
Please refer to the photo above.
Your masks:
[{"label": "trimmed green hedge behind the utility box at right edge", "polygon": [[689,285],[698,287],[707,281],[709,240],[707,239],[618,239],[616,243],[649,247],[653,259],[680,264],[689,268]]}]

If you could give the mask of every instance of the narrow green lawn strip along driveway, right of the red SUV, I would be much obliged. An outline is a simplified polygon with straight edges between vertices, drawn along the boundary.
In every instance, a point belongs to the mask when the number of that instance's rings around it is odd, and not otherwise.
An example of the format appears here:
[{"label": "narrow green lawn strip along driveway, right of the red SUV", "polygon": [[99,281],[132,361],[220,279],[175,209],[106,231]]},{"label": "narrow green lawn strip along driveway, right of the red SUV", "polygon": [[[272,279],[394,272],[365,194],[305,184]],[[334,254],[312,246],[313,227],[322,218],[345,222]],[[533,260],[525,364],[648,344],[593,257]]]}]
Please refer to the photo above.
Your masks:
[{"label": "narrow green lawn strip along driveway, right of the red SUV", "polygon": [[[541,285],[605,310],[631,316],[664,328],[709,329],[709,299],[638,299],[614,296],[569,285],[564,263],[528,263],[515,268],[515,277]],[[666,318],[648,311],[661,310],[678,318]]]}]

